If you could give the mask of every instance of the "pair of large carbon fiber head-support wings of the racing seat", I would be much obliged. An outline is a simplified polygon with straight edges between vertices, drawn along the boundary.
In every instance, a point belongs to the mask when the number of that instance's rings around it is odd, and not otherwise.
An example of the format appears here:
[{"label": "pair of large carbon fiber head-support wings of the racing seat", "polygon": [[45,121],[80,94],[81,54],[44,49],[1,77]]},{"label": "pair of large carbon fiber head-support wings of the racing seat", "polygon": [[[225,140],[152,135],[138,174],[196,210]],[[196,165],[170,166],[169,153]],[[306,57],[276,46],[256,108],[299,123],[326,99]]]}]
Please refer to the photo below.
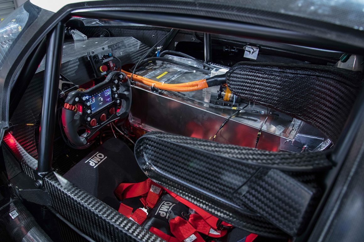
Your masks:
[{"label": "pair of large carbon fiber head-support wings of the racing seat", "polygon": [[[358,73],[314,65],[241,62],[233,93],[297,117],[336,142],[361,85]],[[328,152],[256,150],[151,132],[135,145],[145,174],[234,226],[269,237],[304,231],[321,195]]]}]

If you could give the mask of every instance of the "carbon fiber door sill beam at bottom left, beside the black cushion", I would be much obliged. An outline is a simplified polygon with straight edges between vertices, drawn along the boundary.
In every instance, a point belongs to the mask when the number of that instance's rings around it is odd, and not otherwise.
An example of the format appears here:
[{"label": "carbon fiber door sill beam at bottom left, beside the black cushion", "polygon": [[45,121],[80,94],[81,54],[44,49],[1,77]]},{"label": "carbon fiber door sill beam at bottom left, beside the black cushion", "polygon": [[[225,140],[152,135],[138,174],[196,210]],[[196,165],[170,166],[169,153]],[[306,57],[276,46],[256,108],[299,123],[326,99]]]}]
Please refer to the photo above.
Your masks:
[{"label": "carbon fiber door sill beam at bottom left, beside the black cushion", "polygon": [[95,241],[162,241],[57,173],[44,178],[52,206]]}]

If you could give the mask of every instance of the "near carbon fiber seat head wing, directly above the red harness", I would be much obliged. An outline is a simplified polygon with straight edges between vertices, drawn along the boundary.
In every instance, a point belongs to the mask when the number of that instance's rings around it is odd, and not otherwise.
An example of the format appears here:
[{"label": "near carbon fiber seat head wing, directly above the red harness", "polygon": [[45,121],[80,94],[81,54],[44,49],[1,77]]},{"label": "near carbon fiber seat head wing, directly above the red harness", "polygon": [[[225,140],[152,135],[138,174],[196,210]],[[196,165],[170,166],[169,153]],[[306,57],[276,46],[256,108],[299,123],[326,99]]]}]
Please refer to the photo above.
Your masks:
[{"label": "near carbon fiber seat head wing, directly above the red harness", "polygon": [[[290,235],[300,234],[319,193],[281,170],[289,168],[290,174],[325,171],[331,166],[326,154],[222,147],[161,132],[146,134],[135,146],[138,164],[148,177],[226,222],[270,237],[284,236],[277,227]],[[314,180],[302,177],[298,180]]]}]

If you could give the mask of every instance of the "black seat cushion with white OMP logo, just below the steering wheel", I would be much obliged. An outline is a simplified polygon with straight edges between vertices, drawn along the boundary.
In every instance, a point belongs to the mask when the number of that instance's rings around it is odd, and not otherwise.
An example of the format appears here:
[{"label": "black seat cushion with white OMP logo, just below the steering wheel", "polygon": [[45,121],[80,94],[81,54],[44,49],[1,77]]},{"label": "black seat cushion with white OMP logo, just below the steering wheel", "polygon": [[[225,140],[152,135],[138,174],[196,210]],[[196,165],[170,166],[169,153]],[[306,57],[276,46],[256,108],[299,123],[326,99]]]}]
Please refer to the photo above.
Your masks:
[{"label": "black seat cushion with white OMP logo, just below the steering wheel", "polygon": [[[147,179],[135,160],[134,153],[121,140],[111,138],[93,150],[64,178],[118,210],[120,201],[114,190],[120,183]],[[132,203],[139,201],[130,201]],[[135,204],[134,204],[135,206]],[[132,207],[134,207],[132,206]]]}]

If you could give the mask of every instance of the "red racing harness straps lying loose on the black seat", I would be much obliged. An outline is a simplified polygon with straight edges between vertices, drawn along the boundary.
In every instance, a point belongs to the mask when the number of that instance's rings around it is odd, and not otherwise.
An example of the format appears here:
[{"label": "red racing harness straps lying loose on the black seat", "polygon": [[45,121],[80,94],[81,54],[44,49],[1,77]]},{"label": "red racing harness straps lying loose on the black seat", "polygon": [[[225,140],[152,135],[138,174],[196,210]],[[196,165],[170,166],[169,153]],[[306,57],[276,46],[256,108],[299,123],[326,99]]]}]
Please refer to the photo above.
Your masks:
[{"label": "red racing harness straps lying loose on the black seat", "polygon": [[[143,205],[145,205],[145,208],[138,208],[133,213],[132,207],[120,203],[118,210],[119,213],[141,225],[147,218],[147,209],[153,208],[158,202],[159,196],[162,193],[162,189],[164,189],[177,201],[195,210],[196,214],[190,214],[188,221],[178,216],[170,219],[170,230],[176,238],[171,237],[170,235],[167,235],[154,227],[150,229],[152,233],[158,235],[166,241],[171,242],[203,241],[201,235],[199,235],[198,232],[214,238],[222,237],[227,233],[227,230],[218,230],[217,223],[219,219],[217,217],[207,213],[205,210],[178,196],[177,194],[159,186],[149,178],[139,183],[120,183],[120,185],[114,191],[116,197],[118,197],[120,200],[132,197],[141,197],[140,200]],[[232,225],[229,225],[226,222],[222,222],[221,225],[228,228],[232,227]]]}]

